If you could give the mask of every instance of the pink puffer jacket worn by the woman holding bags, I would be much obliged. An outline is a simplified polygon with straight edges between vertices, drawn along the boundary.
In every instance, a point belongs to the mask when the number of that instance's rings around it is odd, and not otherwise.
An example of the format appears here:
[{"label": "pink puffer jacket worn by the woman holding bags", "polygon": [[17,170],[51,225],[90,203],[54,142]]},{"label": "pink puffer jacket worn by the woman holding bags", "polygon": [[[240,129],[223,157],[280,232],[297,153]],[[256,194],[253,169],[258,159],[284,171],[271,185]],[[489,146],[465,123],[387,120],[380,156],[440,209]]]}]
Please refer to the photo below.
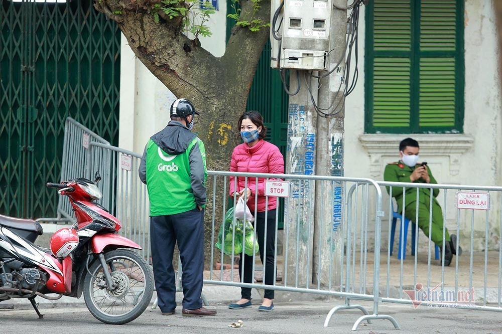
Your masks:
[{"label": "pink puffer jacket worn by the woman holding bags", "polygon": [[[284,173],[284,158],[279,148],[263,139],[249,147],[246,143],[235,146],[230,161],[230,172],[239,173]],[[245,178],[237,178],[237,189],[235,189],[234,177],[230,177],[230,196],[234,192],[239,192],[245,188]],[[255,196],[258,192],[257,212],[273,210],[277,208],[277,198],[269,197],[268,208],[265,208],[265,178],[258,178],[258,191],[256,187],[256,178],[247,179],[247,188],[251,190],[251,196],[247,201],[249,210],[255,214]]]}]

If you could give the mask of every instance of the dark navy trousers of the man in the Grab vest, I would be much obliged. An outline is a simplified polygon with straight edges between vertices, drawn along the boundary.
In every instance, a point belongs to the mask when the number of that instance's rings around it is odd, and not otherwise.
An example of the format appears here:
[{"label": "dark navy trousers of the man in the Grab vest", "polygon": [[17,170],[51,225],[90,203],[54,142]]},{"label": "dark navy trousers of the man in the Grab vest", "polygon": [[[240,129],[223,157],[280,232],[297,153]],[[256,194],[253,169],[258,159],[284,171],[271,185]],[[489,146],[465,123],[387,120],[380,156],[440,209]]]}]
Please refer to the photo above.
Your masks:
[{"label": "dark navy trousers of the man in the Grab vest", "polygon": [[150,218],[152,265],[158,305],[162,312],[176,308],[176,282],[173,267],[174,246],[178,242],[183,268],[183,308],[202,307],[200,294],[204,279],[204,210],[198,208]]}]

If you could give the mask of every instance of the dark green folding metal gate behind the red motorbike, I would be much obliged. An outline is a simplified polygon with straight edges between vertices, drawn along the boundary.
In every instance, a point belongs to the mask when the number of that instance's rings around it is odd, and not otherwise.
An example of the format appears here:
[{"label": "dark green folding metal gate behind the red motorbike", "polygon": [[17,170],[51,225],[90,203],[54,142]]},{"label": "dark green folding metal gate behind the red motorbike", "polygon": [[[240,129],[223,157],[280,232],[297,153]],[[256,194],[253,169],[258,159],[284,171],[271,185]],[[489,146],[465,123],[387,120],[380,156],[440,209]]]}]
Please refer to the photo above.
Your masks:
[{"label": "dark green folding metal gate behind the red motorbike", "polygon": [[53,217],[66,117],[117,142],[120,31],[91,0],[4,0],[0,28],[0,213]]}]

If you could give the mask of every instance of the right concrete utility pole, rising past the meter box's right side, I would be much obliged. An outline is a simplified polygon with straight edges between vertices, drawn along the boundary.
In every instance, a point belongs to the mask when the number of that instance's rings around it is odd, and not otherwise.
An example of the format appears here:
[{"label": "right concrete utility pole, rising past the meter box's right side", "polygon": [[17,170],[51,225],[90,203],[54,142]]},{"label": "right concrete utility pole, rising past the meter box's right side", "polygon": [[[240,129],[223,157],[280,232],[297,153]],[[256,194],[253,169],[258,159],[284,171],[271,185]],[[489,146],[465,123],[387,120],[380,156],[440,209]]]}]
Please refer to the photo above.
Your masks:
[{"label": "right concrete utility pole, rising past the meter box's right side", "polygon": [[[331,13],[331,32],[329,70],[337,69],[325,78],[321,78],[318,93],[318,106],[327,114],[336,113],[326,118],[317,118],[317,154],[316,174],[343,176],[344,117],[345,117],[345,43],[347,32],[347,1],[333,0]],[[317,187],[320,189],[320,187]],[[319,272],[321,284],[327,285],[331,275],[331,284],[340,281],[340,272],[336,272],[343,258],[341,224],[344,206],[343,184],[334,182],[324,185],[324,193],[316,192],[314,214],[314,273]],[[317,277],[313,277],[317,282]]]}]

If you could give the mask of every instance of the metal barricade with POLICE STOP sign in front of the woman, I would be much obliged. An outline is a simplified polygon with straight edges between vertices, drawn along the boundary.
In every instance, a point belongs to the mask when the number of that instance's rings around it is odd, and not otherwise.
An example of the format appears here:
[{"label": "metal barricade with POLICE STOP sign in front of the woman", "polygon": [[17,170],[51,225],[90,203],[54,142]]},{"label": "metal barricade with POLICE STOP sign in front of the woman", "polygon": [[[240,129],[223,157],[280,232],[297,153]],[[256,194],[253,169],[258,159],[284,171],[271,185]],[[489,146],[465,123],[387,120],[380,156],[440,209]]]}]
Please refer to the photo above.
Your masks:
[{"label": "metal barricade with POLICE STOP sign in front of the woman", "polygon": [[[340,309],[357,308],[365,315],[361,316],[354,324],[353,329],[356,329],[358,324],[364,320],[371,319],[388,319],[396,328],[399,325],[395,319],[389,315],[378,313],[378,304],[380,302],[379,289],[374,289],[374,286],[379,286],[379,266],[375,269],[368,266],[368,223],[369,223],[369,206],[370,198],[375,199],[373,203],[374,211],[374,263],[380,263],[380,228],[381,219],[384,215],[382,211],[382,193],[380,187],[369,179],[355,179],[344,177],[322,177],[322,176],[302,176],[302,175],[276,175],[276,174],[248,174],[234,172],[215,172],[208,173],[212,178],[212,225],[211,225],[211,245],[210,254],[210,270],[208,277],[204,280],[206,284],[218,284],[228,286],[240,286],[258,289],[271,289],[279,291],[312,293],[329,296],[341,296],[346,298],[346,304],[333,308],[328,314],[325,326],[327,326],[334,312]],[[243,256],[240,259],[241,268],[245,267],[245,261],[252,261],[252,273],[250,282],[244,282],[243,269],[239,272],[234,269],[233,265],[230,269],[225,269],[223,264],[233,264],[235,257],[245,249],[245,225],[240,237],[237,237],[235,229],[227,232],[226,239],[227,249],[221,246],[221,249],[216,249],[214,241],[220,241],[223,236],[218,235],[218,231],[225,231],[225,224],[233,224],[235,226],[235,217],[225,219],[226,203],[229,199],[229,187],[233,179],[244,179],[245,185],[250,185],[252,189],[258,189],[259,180],[277,180],[281,179],[291,183],[293,196],[285,198],[285,215],[284,215],[284,251],[283,256],[277,254],[277,238],[274,240],[275,253],[273,268],[263,263],[260,268],[258,255],[255,254],[252,258]],[[307,186],[308,185],[308,186]],[[314,187],[315,185],[315,187]],[[362,186],[362,191],[358,186]],[[341,188],[341,192],[337,189]],[[339,194],[345,194],[346,189],[349,189],[347,194],[347,202],[341,198],[342,203],[346,203],[346,215],[343,217],[341,224],[333,224],[333,204],[335,197]],[[314,210],[314,192],[320,191],[321,194],[326,194],[329,199],[327,203],[331,203],[328,207],[324,207],[324,202],[320,203],[320,208]],[[370,196],[372,193],[373,197]],[[296,194],[296,195],[295,195]],[[300,196],[300,194],[303,194]],[[307,199],[303,201],[302,199]],[[219,201],[217,201],[219,200]],[[266,197],[266,204],[269,197]],[[338,200],[338,199],[336,199]],[[235,204],[236,199],[231,198]],[[257,217],[257,198],[255,197],[255,212],[252,214]],[[221,210],[218,210],[222,205]],[[298,205],[300,203],[300,205]],[[277,235],[278,228],[278,212],[275,217],[275,232]],[[265,214],[265,225],[267,225],[267,214]],[[256,237],[257,223],[253,231]],[[268,229],[265,228],[265,231]],[[356,238],[360,236],[360,240]],[[265,239],[267,239],[265,235]],[[241,247],[236,247],[236,240],[242,242]],[[307,245],[307,247],[304,247]],[[237,251],[235,251],[237,249]],[[226,253],[226,254],[225,254]],[[253,252],[252,252],[253,253]],[[267,249],[263,250],[263,258],[267,258]],[[242,255],[242,254],[241,254]],[[242,263],[244,262],[244,263]],[[219,270],[214,268],[218,267]],[[267,268],[268,267],[268,268]],[[357,270],[359,268],[359,270]],[[272,283],[266,283],[267,270],[273,270]],[[278,274],[280,279],[278,279]],[[259,282],[261,281],[261,282]],[[237,297],[237,296],[236,296]],[[369,300],[374,302],[373,314],[361,305],[350,305],[349,300]]]}]

